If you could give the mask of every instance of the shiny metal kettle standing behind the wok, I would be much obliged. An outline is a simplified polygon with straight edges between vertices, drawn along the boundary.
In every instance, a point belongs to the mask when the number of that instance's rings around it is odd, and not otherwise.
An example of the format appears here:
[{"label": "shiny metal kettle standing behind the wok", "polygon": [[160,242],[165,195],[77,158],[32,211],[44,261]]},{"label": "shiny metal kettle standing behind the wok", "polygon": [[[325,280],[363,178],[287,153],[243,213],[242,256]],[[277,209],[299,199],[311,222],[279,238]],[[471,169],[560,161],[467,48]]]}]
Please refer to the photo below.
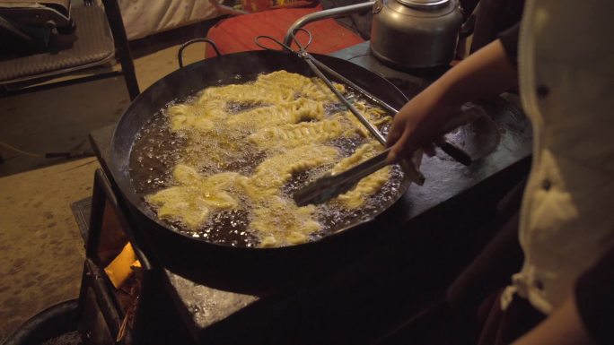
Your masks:
[{"label": "shiny metal kettle standing behind the wok", "polygon": [[396,69],[448,65],[459,37],[458,0],[377,0],[373,4],[373,56]]}]

